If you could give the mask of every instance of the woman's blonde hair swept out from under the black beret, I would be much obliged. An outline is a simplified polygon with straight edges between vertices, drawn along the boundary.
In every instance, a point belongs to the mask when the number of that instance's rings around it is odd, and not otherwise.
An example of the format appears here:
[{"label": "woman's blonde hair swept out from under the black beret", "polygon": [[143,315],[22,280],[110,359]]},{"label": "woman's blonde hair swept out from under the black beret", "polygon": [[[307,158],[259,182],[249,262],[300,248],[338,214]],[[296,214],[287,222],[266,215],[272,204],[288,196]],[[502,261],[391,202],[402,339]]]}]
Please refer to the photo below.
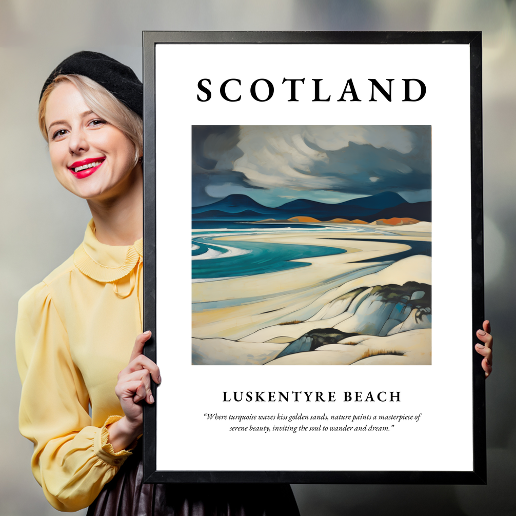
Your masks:
[{"label": "woman's blonde hair swept out from under the black beret", "polygon": [[72,83],[79,90],[86,105],[96,115],[120,129],[133,142],[136,166],[143,152],[143,121],[141,117],[120,102],[104,86],[85,75],[58,75],[43,92],[38,107],[38,123],[39,130],[46,142],[49,141],[49,134],[45,125],[46,102],[56,86],[65,81]]}]

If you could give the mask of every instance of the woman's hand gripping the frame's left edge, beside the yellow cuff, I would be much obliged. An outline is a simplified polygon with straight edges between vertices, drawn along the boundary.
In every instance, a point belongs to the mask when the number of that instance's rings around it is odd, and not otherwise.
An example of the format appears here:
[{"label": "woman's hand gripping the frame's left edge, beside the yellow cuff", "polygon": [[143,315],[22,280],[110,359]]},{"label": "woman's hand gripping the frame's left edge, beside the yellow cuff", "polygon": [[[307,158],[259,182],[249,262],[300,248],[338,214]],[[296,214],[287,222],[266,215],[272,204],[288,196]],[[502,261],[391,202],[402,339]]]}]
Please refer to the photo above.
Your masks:
[{"label": "woman's hand gripping the frame's left edge, beside the yellow cuff", "polygon": [[140,402],[154,403],[151,376],[156,383],[161,383],[159,367],[143,354],[143,346],[150,337],[150,331],[136,337],[129,364],[118,374],[115,393],[125,416],[107,427],[108,441],[115,451],[126,448],[142,433],[143,407]]}]

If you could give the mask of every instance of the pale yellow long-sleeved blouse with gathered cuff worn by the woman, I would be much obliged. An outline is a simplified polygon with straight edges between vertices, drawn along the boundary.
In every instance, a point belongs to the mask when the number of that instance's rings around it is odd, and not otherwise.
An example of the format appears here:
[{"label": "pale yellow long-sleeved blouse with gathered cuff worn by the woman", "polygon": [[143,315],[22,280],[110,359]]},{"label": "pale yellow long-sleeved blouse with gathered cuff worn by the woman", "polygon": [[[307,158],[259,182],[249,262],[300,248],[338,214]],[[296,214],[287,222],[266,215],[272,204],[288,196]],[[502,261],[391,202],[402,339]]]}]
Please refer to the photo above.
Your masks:
[{"label": "pale yellow long-sleeved blouse with gathered cuff worn by the woman", "polygon": [[[108,246],[90,221],[83,243],[21,299],[16,329],[20,432],[32,470],[58,510],[90,505],[130,451],[115,453],[106,425],[142,324],[142,240]],[[91,405],[91,417],[88,404]]]}]

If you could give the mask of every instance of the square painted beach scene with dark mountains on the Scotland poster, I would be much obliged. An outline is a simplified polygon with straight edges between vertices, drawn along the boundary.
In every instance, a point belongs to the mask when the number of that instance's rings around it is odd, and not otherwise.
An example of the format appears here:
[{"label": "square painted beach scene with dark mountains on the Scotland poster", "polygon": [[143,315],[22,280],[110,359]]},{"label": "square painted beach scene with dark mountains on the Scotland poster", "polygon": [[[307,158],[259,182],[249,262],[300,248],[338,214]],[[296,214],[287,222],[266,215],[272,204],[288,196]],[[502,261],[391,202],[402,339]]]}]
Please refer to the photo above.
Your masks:
[{"label": "square painted beach scene with dark mountains on the Scotland poster", "polygon": [[431,126],[192,126],[192,364],[430,365]]}]

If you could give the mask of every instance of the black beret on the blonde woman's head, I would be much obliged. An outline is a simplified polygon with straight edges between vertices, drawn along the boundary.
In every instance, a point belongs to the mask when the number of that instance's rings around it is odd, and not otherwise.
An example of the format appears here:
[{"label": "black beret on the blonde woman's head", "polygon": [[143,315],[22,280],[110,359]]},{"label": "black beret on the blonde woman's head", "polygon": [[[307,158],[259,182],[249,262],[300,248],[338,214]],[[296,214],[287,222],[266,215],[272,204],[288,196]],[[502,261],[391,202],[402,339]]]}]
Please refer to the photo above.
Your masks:
[{"label": "black beret on the blonde woman's head", "polygon": [[104,86],[140,117],[143,116],[143,84],[131,68],[116,59],[90,51],[77,52],[67,57],[46,79],[39,96],[40,101],[46,87],[61,74],[89,77]]}]

